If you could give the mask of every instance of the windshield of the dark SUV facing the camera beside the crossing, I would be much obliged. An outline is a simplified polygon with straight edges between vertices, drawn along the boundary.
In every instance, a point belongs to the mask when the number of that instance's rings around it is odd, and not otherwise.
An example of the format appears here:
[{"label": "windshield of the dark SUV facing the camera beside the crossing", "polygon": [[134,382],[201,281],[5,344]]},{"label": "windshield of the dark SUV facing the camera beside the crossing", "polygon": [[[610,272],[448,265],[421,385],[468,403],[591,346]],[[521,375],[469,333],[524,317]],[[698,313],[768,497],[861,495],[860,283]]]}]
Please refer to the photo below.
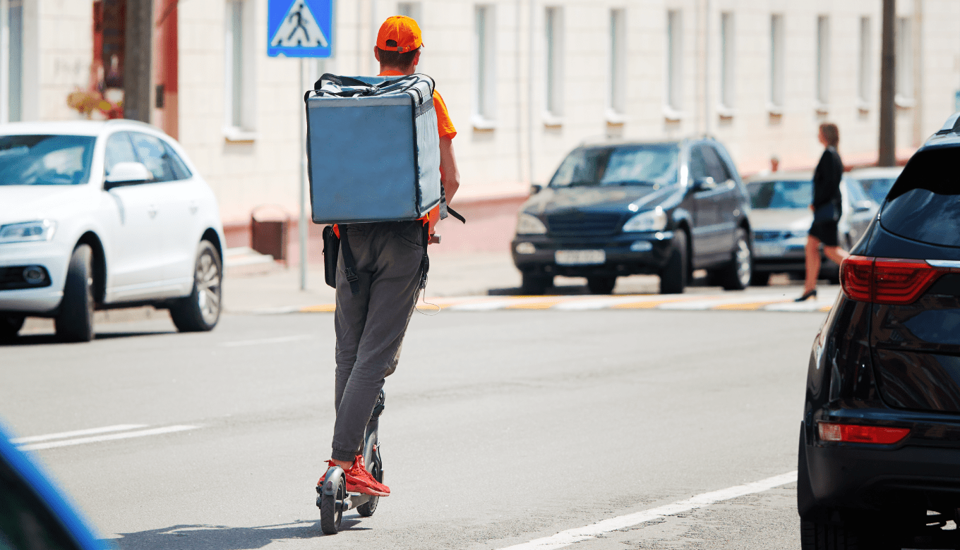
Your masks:
[{"label": "windshield of the dark SUV facing the camera beside the crossing", "polygon": [[550,187],[668,185],[677,182],[679,156],[676,144],[576,149]]}]

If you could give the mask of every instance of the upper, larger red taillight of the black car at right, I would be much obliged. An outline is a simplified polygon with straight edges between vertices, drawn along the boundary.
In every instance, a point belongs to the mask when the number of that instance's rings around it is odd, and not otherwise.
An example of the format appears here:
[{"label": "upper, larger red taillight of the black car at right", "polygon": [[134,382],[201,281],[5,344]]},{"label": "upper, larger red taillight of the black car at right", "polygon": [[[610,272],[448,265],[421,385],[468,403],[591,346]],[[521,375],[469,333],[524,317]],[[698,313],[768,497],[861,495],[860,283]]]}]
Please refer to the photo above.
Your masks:
[{"label": "upper, larger red taillight of the black car at right", "polygon": [[858,302],[912,304],[944,273],[923,260],[850,256],[840,266],[844,294]]}]

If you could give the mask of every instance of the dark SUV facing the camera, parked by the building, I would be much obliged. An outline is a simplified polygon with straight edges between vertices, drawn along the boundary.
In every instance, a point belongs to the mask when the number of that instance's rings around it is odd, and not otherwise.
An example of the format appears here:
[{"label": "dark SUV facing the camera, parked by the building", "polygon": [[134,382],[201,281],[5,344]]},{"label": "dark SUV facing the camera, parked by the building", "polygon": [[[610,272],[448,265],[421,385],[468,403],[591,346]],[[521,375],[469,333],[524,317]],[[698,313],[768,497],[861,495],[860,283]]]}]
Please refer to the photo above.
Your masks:
[{"label": "dark SUV facing the camera, parked by the building", "polygon": [[587,277],[609,294],[621,275],[660,275],[684,291],[693,269],[729,289],[750,284],[750,196],[727,149],[712,139],[584,146],[520,209],[514,264],[523,292],[554,275]]}]

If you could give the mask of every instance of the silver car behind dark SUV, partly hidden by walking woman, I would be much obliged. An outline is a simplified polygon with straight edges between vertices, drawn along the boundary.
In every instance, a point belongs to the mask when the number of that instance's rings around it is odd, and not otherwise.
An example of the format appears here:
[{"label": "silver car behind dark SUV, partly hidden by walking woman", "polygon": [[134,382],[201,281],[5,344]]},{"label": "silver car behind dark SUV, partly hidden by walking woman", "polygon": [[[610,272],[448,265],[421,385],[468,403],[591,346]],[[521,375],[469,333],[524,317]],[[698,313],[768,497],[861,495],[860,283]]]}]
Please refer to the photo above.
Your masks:
[{"label": "silver car behind dark SUV, partly hidden by walking woman", "polygon": [[[838,223],[840,244],[844,247],[849,241],[850,219],[869,208],[862,200],[852,203],[852,194],[847,187],[844,178],[840,184],[843,216]],[[751,283],[766,285],[771,273],[787,273],[793,279],[803,279],[804,246],[813,222],[813,212],[810,211],[813,173],[773,172],[754,176],[747,182],[747,191],[750,193],[750,220],[754,229],[754,277]],[[820,277],[837,283],[839,266],[822,256]]]}]

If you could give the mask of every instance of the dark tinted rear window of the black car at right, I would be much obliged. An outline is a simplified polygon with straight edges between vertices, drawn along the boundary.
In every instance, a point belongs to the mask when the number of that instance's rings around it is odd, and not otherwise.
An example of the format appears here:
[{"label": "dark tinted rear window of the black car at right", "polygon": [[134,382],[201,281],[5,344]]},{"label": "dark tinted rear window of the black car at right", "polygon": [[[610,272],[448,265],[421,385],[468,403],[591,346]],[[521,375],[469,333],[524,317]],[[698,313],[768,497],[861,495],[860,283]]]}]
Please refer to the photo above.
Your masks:
[{"label": "dark tinted rear window of the black car at right", "polygon": [[880,224],[914,241],[960,246],[960,148],[913,155],[887,195]]}]

